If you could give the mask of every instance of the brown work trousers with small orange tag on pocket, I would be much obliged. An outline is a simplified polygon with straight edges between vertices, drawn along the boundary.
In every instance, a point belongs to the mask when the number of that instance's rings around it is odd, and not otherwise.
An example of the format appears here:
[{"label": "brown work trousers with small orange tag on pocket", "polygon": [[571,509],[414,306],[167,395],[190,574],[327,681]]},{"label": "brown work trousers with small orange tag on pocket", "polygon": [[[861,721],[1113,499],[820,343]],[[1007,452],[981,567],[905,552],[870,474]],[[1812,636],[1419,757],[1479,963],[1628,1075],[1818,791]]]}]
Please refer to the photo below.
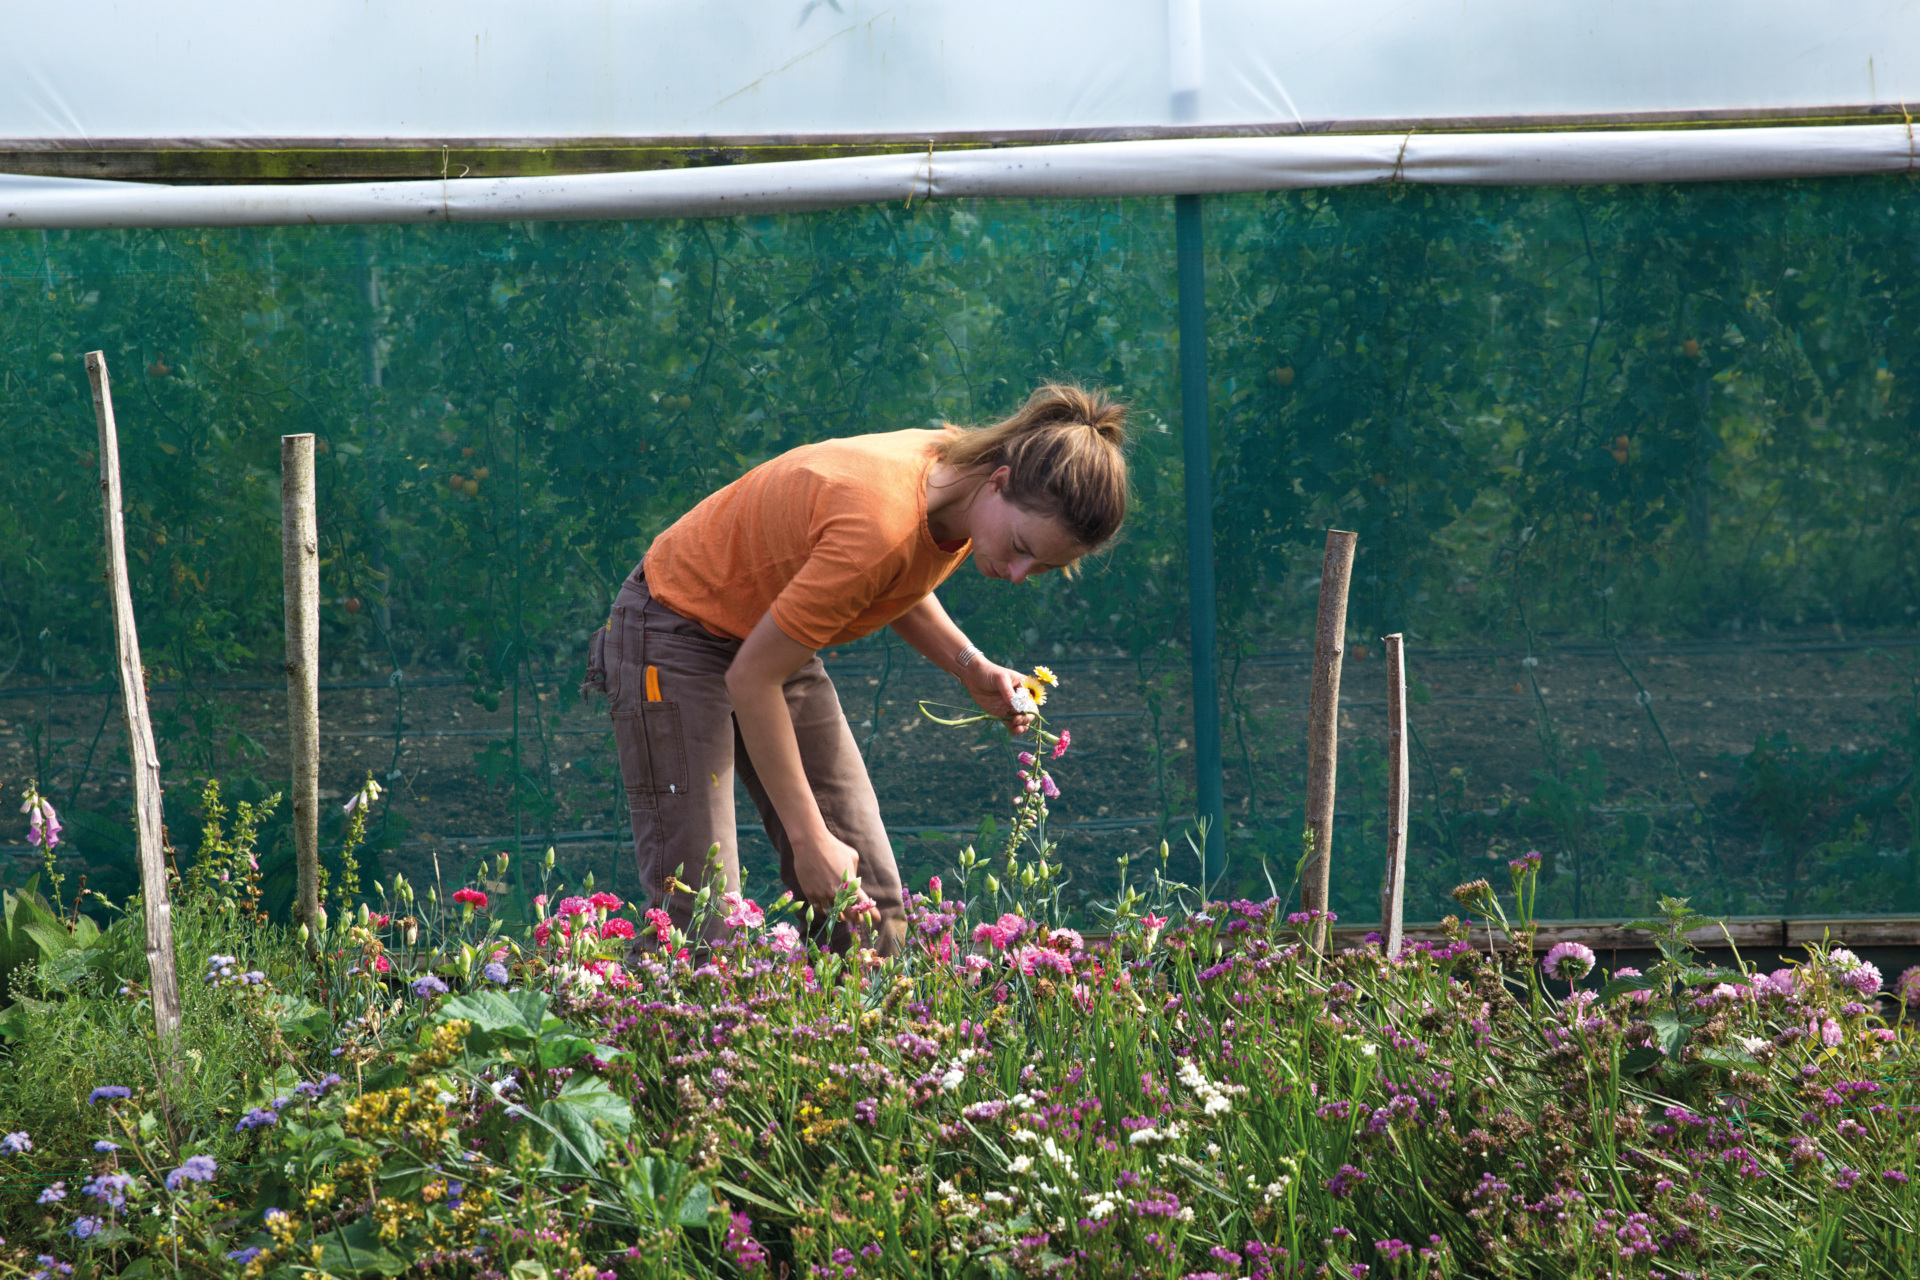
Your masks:
[{"label": "brown work trousers with small orange tag on pocket", "polygon": [[[737,652],[739,641],[714,635],[655,601],[647,591],[645,564],[620,587],[612,616],[593,633],[588,651],[588,687],[605,693],[612,704],[612,737],[620,752],[641,890],[647,906],[666,908],[682,929],[691,923],[693,896],[668,892],[668,877],[697,890],[705,881],[708,850],[718,846],[726,883],[714,885],[714,898],[739,889],[735,770],[780,852],[780,879],[801,898],[793,842],[733,722],[726,674]],[[649,666],[659,681],[657,699],[647,697]],[[860,887],[879,908],[877,929],[864,931],[866,944],[891,956],[906,935],[900,871],[839,693],[816,656],[787,677],[785,695],[820,816],[828,831],[860,854]],[[707,929],[710,940],[728,933],[718,915]],[[845,925],[835,925],[831,938],[822,936],[822,942],[831,940],[835,950],[845,950],[851,938]]]}]

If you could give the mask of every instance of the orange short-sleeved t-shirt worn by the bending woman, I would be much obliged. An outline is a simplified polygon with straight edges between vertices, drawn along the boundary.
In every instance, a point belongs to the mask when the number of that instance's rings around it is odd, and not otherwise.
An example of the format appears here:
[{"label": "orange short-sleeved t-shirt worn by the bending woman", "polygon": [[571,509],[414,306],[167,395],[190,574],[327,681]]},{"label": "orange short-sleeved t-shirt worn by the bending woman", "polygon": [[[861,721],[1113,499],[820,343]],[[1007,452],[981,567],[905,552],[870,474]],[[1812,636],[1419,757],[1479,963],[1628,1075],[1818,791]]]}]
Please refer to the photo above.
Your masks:
[{"label": "orange short-sleeved t-shirt worn by the bending woman", "polygon": [[774,626],[845,645],[912,610],[972,551],[927,532],[927,472],[945,432],[801,445],[710,495],[647,547],[647,591],[708,631]]}]

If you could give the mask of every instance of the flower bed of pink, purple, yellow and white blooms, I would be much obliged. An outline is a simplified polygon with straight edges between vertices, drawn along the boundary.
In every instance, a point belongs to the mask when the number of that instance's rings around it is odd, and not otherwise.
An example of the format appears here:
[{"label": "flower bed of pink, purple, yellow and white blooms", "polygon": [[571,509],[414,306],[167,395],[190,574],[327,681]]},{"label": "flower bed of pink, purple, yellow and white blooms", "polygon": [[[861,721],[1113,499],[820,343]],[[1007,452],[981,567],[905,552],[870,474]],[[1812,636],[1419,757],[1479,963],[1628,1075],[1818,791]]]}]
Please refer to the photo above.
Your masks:
[{"label": "flower bed of pink, purple, yellow and white blooms", "polygon": [[[1644,921],[1663,952],[1649,973],[1592,973],[1578,944],[1536,963],[1536,858],[1515,860],[1507,896],[1455,892],[1513,950],[1476,950],[1453,921],[1453,940],[1396,958],[1321,956],[1311,915],[1204,902],[1162,869],[1089,940],[1058,913],[1048,758],[1021,760],[1020,835],[991,865],[968,850],[952,894],[912,894],[895,958],[824,952],[793,902],[739,894],[699,896],[718,940],[695,948],[591,885],[543,885],[534,919],[507,927],[484,887],[422,902],[396,881],[374,887],[380,910],[342,904],[319,936],[290,933],[259,919],[215,796],[213,871],[182,885],[182,954],[202,950],[180,1055],[152,1048],[144,1073],[123,1055],[115,1079],[48,1061],[61,1025],[106,1017],[86,990],[140,1025],[111,950],[138,936],[132,913],[61,969],[75,990],[27,983],[0,1027],[15,1038],[4,1265],[35,1280],[1920,1270],[1905,1023],[1920,975],[1884,998],[1837,944],[1776,973],[1709,969],[1682,902]],[[10,929],[40,915],[63,919],[10,894]],[[248,1052],[211,1067],[217,1034]],[[75,1063],[111,1048],[61,1044]],[[10,1123],[27,1103],[36,1128]]]}]

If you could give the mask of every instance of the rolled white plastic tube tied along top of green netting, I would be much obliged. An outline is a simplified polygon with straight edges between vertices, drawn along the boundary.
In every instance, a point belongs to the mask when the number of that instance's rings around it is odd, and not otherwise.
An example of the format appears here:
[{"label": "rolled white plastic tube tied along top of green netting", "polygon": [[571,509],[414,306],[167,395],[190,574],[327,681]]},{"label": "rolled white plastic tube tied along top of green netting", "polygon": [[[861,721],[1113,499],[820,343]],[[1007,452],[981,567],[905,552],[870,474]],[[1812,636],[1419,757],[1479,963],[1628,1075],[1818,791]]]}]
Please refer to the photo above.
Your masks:
[{"label": "rolled white plastic tube tied along top of green netting", "polygon": [[154,186],[0,177],[8,226],[271,226],[722,217],[991,196],[1452,182],[1695,182],[1914,173],[1907,125],[1087,142],[561,178]]}]

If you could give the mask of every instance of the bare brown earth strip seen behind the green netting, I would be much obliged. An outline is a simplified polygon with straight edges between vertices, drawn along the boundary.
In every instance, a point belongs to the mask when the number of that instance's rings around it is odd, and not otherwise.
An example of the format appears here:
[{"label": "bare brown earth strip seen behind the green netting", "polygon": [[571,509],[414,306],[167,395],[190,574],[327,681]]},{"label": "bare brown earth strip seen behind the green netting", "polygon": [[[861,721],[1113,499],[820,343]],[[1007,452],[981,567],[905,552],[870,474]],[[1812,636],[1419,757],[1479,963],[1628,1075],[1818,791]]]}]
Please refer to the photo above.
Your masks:
[{"label": "bare brown earth strip seen behind the green netting", "polygon": [[[1642,645],[1628,651],[1628,658],[1651,695],[1651,710],[1680,770],[1709,810],[1726,812],[1734,758],[1751,750],[1757,735],[1791,733],[1814,752],[1872,750],[1885,741],[1899,727],[1910,697],[1897,670],[1897,662],[1912,658],[1910,645],[1903,637],[1897,645],[1872,651],[1837,641],[1828,631],[1749,643]],[[1298,806],[1304,787],[1306,656],[1304,649],[1269,652],[1225,674],[1233,677],[1233,702],[1244,712],[1244,722],[1236,725],[1229,706],[1225,729],[1227,802],[1236,827],[1288,819]],[[1160,814],[1192,812],[1185,651],[1169,645],[1158,672],[1127,658],[1062,656],[1052,666],[1062,685],[1048,704],[1050,723],[1073,735],[1073,750],[1056,768],[1064,796],[1052,806],[1052,821],[1079,883],[1104,885],[1112,879],[1117,854],[1158,846],[1164,833]],[[1542,768],[1544,756],[1523,654],[1409,652],[1407,666],[1415,685],[1430,695],[1428,702],[1411,708],[1425,747],[1425,756],[1415,752],[1413,758],[1415,804],[1430,802],[1432,781],[1448,793],[1459,787],[1469,808],[1494,810],[1524,794],[1528,775]],[[966,833],[983,816],[1000,816],[1012,804],[1014,762],[1004,733],[950,729],[924,720],[916,708],[920,699],[956,704],[964,695],[899,645],[891,670],[866,654],[831,658],[828,670],[835,674],[856,737],[870,739],[870,768],[897,833],[902,869],[924,879],[950,867]],[[411,831],[407,842],[388,854],[388,869],[405,869],[419,879],[432,875],[438,858],[442,875],[453,879],[484,848],[499,846],[499,837],[513,835],[505,789],[486,785],[474,770],[476,752],[509,737],[513,716],[507,702],[499,712],[474,704],[461,683],[445,677],[444,683],[428,683],[426,672],[411,676],[399,777],[392,781],[392,800],[401,806]],[[1605,804],[1684,804],[1653,722],[1611,652],[1569,643],[1544,652],[1534,676],[1567,756],[1601,754],[1609,777]],[[31,723],[48,722],[42,733],[54,741],[52,750],[77,766],[106,708],[100,697],[12,693],[0,697],[0,785],[8,794],[35,768],[27,741]],[[286,777],[284,693],[271,687],[227,689],[223,697],[236,710],[236,727],[265,748],[252,768],[265,779]],[[159,691],[154,702],[156,712],[165,712],[177,706],[179,695]],[[522,760],[536,771],[543,766],[553,779],[559,810],[551,833],[559,860],[574,875],[593,869],[603,885],[609,879],[632,885],[632,858],[616,825],[616,766],[607,720],[586,706],[576,704],[564,714],[557,706],[557,691],[538,699],[532,691],[522,693]],[[1361,656],[1361,651],[1350,651],[1342,689],[1342,754],[1361,770],[1363,781],[1380,771],[1384,710],[1379,652]],[[380,777],[390,773],[394,712],[390,687],[323,689],[324,796],[348,794],[369,770]],[[536,720],[545,743],[536,733]],[[163,748],[169,787],[190,785],[167,754]],[[1256,762],[1258,779],[1252,810],[1248,756]],[[71,775],[61,775],[61,785]],[[109,718],[81,804],[106,808],[123,802],[125,789],[119,722]],[[1348,785],[1340,808],[1348,812],[1350,804],[1365,802],[1377,802],[1377,787]],[[1179,829],[1181,823],[1167,829],[1177,848]],[[547,831],[545,823],[528,819],[528,844],[538,841],[545,846]],[[749,890],[772,896],[772,850],[745,794],[741,837]],[[15,856],[25,854],[23,846],[15,846]],[[1194,871],[1185,850],[1173,865],[1175,873],[1183,869],[1188,875]],[[1872,904],[1860,910],[1872,910]]]}]

